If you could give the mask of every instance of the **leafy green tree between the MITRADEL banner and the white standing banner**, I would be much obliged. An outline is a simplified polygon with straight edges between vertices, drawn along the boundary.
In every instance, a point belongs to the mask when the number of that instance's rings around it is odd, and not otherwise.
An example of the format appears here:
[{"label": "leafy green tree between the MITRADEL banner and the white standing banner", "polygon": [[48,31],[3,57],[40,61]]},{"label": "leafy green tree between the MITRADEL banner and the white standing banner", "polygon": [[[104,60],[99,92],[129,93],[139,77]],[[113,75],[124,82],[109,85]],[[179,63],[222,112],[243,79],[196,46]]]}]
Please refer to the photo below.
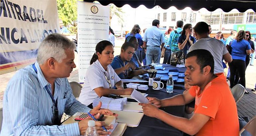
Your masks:
[{"label": "leafy green tree between the MITRADEL banner and the white standing banner", "polygon": [[77,2],[76,0],[57,0],[58,15],[64,26],[70,26],[71,33],[77,33]]}]

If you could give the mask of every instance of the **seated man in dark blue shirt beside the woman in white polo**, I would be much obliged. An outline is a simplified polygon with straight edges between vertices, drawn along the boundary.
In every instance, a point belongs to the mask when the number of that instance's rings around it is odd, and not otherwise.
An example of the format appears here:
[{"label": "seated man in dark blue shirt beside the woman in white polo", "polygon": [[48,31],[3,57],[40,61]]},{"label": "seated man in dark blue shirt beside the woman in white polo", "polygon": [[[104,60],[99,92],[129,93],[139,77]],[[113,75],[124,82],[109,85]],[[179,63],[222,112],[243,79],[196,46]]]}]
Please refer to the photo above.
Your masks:
[{"label": "seated man in dark blue shirt beside the woman in white polo", "polygon": [[121,47],[120,55],[115,56],[111,63],[112,68],[121,79],[129,79],[147,73],[147,70],[144,69],[135,70],[135,65],[131,62],[134,51],[134,45],[125,42]]}]

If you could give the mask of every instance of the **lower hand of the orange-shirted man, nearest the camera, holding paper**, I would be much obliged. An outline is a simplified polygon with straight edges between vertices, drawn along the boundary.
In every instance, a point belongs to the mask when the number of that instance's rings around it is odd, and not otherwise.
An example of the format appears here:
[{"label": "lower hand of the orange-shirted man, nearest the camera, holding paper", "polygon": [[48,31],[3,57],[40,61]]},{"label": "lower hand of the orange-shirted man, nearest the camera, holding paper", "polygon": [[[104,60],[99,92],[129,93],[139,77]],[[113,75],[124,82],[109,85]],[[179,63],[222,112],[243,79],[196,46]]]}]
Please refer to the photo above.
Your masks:
[{"label": "lower hand of the orange-shirted man, nearest the camera, holding paper", "polygon": [[156,105],[151,103],[139,103],[139,105],[142,106],[143,113],[150,117],[156,117],[160,110],[158,107],[156,107]]}]

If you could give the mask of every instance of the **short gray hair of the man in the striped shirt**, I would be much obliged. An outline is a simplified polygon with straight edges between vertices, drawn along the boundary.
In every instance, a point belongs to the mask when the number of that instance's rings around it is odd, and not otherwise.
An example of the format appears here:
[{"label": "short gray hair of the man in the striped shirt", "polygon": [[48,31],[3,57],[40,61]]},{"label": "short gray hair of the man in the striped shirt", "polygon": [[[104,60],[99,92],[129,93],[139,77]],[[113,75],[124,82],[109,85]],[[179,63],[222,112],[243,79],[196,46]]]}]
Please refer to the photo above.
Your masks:
[{"label": "short gray hair of the man in the striped shirt", "polygon": [[75,50],[74,42],[62,34],[54,33],[48,35],[40,44],[37,53],[37,62],[44,64],[49,58],[62,62],[66,58],[65,50]]}]

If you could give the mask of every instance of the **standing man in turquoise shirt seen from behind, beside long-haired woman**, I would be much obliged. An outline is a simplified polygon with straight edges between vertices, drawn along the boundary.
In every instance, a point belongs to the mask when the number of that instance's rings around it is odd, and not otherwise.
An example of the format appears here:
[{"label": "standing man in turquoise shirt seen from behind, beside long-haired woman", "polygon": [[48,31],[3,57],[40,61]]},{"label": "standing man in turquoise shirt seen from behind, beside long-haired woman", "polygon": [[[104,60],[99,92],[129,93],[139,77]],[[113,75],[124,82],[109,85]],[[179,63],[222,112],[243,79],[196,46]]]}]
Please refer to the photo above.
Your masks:
[{"label": "standing man in turquoise shirt seen from behind, beside long-haired woman", "polygon": [[175,31],[171,32],[170,37],[169,37],[169,43],[168,43],[168,45],[172,51],[172,54],[173,54],[173,52],[180,50],[178,47],[178,39],[182,32],[183,21],[181,21],[181,20],[177,21],[176,26],[177,26],[177,29]]}]

